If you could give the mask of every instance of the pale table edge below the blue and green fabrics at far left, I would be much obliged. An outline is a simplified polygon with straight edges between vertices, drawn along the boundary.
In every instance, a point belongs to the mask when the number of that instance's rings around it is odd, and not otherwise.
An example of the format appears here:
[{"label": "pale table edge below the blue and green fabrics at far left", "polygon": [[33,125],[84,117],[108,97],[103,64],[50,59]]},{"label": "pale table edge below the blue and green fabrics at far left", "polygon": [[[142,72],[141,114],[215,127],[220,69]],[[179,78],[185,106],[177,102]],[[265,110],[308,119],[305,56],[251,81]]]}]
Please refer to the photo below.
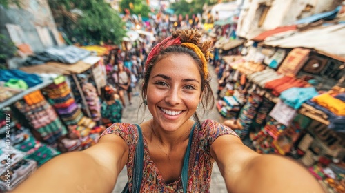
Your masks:
[{"label": "pale table edge below the blue and green fabrics at far left", "polygon": [[28,90],[24,90],[23,92],[20,92],[16,95],[12,96],[10,99],[0,103],[0,109],[5,108],[8,105],[15,103],[16,101],[23,99],[23,97],[26,96],[26,94],[30,94],[31,92],[45,88],[46,86],[50,85],[51,83],[53,83],[52,79],[43,79],[42,83],[35,85],[33,87],[30,87],[30,88],[28,88]]}]

